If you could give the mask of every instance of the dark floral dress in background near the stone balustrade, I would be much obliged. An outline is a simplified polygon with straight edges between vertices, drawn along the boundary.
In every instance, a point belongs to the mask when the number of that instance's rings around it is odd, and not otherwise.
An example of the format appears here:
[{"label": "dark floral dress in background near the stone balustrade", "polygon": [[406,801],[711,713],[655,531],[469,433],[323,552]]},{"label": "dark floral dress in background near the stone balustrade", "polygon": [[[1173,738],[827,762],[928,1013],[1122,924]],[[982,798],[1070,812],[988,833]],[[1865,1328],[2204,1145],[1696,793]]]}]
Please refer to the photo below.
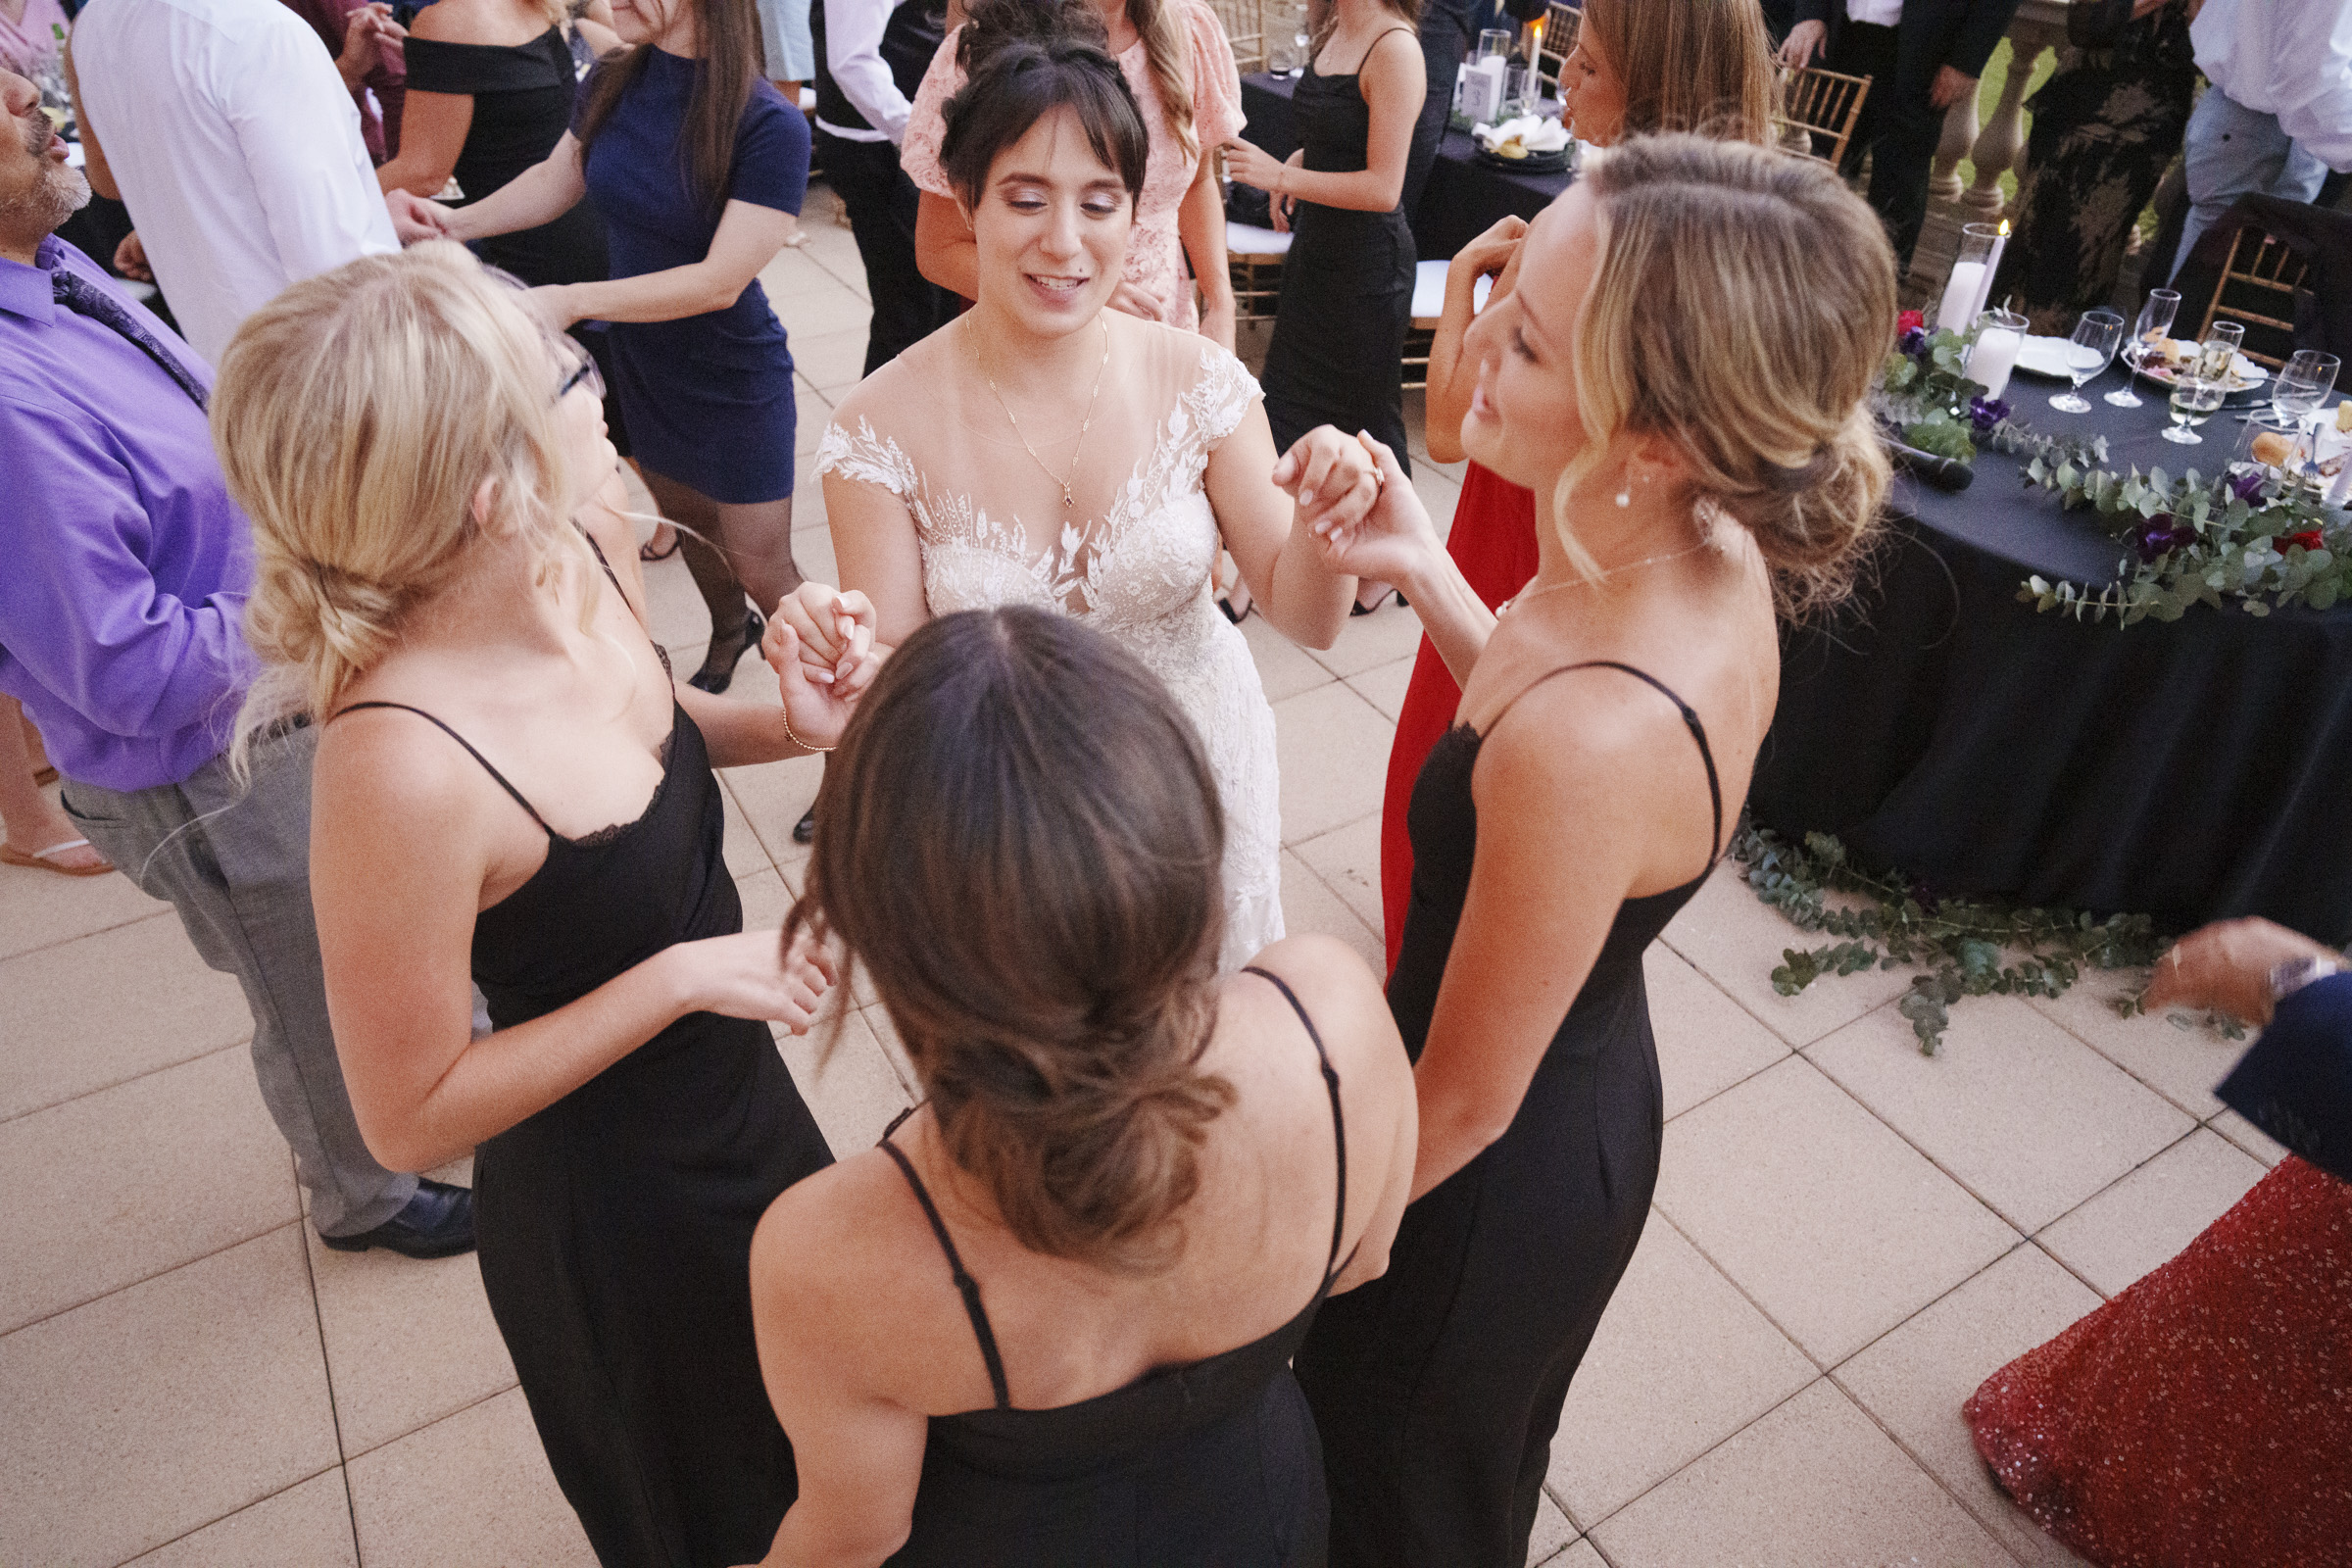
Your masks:
[{"label": "dark floral dress in background near the stone balustrade", "polygon": [[2018,235],[1992,299],[2016,294],[2030,331],[2067,334],[2114,294],[2124,242],[2180,153],[2194,99],[2187,0],[2129,24],[2112,49],[2065,49],[2027,99]]}]

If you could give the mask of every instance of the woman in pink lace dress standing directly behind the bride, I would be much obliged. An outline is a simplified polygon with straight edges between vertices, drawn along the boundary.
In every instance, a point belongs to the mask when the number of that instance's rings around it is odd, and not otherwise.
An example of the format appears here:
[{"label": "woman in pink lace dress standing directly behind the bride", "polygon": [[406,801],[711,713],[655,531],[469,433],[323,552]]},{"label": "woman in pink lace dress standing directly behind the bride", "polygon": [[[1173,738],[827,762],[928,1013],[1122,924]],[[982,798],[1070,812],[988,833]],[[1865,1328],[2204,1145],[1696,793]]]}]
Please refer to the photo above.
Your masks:
[{"label": "woman in pink lace dress standing directly behind the bride", "polygon": [[[1232,350],[1232,280],[1225,275],[1225,205],[1209,150],[1242,129],[1242,73],[1207,0],[1058,0],[1030,7],[1040,35],[1101,28],[1136,94],[1152,150],[1136,200],[1127,277],[1112,308],[1202,331]],[[915,256],[922,275],[964,299],[978,292],[971,226],[938,165],[941,106],[964,85],[964,28],[941,42],[915,92],[898,162],[922,188]],[[1190,259],[1192,273],[1185,275]],[[1207,310],[1195,310],[1200,282]]]}]

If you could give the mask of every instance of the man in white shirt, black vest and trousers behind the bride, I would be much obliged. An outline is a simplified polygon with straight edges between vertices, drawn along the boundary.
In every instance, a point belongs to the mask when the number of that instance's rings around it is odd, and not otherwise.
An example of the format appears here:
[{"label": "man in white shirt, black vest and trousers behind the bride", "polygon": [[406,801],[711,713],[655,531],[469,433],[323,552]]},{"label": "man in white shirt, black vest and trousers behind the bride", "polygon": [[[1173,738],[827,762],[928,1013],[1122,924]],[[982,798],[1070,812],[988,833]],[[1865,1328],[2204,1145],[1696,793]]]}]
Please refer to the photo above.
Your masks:
[{"label": "man in white shirt, black vest and trousers behind the bride", "polygon": [[875,315],[866,374],[955,320],[955,296],[915,266],[922,193],[898,167],[915,87],[946,35],[946,0],[814,0],[816,162],[849,212]]}]

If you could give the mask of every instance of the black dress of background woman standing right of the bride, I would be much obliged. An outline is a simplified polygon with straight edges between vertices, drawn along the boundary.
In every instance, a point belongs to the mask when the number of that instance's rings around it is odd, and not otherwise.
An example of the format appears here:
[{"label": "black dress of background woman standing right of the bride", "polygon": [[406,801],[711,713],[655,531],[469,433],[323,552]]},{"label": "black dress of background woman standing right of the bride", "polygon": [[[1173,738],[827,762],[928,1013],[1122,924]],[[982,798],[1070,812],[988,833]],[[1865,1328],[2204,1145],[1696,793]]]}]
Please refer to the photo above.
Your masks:
[{"label": "black dress of background woman standing right of the bride", "polygon": [[[1390,28],[1371,40],[1371,49]],[[1371,59],[1371,49],[1364,52]],[[1305,167],[1355,174],[1369,167],[1371,106],[1350,75],[1317,75],[1310,63],[1291,94]],[[1404,329],[1414,324],[1414,228],[1404,207],[1352,212],[1291,207],[1291,249],[1282,259],[1275,336],[1265,346],[1265,418],[1275,451],[1315,425],[1369,430],[1411,468],[1404,451]]]}]

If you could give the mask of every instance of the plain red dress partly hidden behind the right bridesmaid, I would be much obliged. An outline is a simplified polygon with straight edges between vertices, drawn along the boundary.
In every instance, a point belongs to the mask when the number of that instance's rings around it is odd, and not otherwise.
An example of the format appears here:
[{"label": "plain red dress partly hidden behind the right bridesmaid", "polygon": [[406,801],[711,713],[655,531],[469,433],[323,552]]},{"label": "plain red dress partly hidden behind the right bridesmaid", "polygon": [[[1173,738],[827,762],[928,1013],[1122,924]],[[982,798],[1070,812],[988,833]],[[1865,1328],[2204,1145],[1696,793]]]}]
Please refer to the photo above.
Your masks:
[{"label": "plain red dress partly hidden behind the right bridesmaid", "polygon": [[[1454,529],[1446,555],[1463,569],[1470,590],[1498,607],[1536,576],[1536,494],[1510,480],[1498,480],[1477,463],[1463,473],[1463,494],[1454,503]],[[1397,966],[1397,943],[1404,940],[1404,905],[1414,889],[1414,842],[1404,835],[1404,809],[1414,799],[1421,762],[1437,736],[1454,729],[1454,710],[1463,689],[1454,684],[1446,661],[1430,639],[1421,639],[1414,679],[1397,712],[1397,738],[1388,748],[1388,797],[1381,804],[1381,917],[1388,926],[1388,966]]]}]

